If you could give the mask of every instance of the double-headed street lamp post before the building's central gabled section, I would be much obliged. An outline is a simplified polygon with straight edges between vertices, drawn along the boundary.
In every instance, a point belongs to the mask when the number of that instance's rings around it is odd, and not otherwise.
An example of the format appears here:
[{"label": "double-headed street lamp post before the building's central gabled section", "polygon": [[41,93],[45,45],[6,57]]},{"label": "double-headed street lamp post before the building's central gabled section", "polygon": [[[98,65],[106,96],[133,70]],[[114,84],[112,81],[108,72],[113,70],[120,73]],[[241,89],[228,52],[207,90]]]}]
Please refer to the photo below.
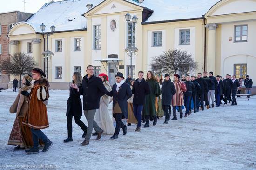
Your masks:
[{"label": "double-headed street lamp post before the building's central gabled section", "polygon": [[[127,21],[128,25],[129,25],[129,22],[131,20],[131,15],[129,13],[127,13],[125,15],[125,20]],[[136,52],[138,52],[138,49],[133,46],[133,29],[135,29],[135,25],[138,21],[138,18],[136,17],[136,15],[133,16],[132,18],[132,23],[131,23],[131,46],[128,45],[128,47],[125,49],[125,52],[127,53],[127,55],[130,54],[130,60],[131,60],[131,65],[130,65],[130,69],[131,69],[131,78],[133,78],[132,76],[132,55],[136,55]],[[129,34],[129,31],[128,31],[128,34]],[[128,43],[129,44],[129,43]]]}]

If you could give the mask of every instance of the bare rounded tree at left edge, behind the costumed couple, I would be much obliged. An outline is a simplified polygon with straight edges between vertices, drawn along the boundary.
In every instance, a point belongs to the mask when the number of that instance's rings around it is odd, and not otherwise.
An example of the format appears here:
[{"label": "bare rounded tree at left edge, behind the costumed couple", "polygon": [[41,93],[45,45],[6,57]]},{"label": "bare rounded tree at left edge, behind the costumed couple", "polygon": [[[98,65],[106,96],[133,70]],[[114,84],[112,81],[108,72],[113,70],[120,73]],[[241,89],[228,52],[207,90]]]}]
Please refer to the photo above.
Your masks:
[{"label": "bare rounded tree at left edge, behind the costumed couple", "polygon": [[37,63],[34,58],[22,52],[14,53],[10,58],[8,57],[0,61],[1,70],[7,72],[7,74],[20,76],[20,87],[21,76],[30,73],[35,66],[37,66]]}]

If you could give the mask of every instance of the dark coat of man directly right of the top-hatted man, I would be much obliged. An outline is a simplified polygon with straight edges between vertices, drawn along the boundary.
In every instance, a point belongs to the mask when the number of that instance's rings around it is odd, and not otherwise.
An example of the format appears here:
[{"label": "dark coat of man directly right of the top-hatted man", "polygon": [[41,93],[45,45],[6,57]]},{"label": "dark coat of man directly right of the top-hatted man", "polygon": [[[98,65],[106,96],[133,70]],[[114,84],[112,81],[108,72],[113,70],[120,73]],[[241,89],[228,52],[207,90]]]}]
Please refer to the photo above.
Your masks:
[{"label": "dark coat of man directly right of the top-hatted man", "polygon": [[144,78],[141,80],[141,82],[139,82],[139,79],[137,79],[133,83],[132,93],[134,94],[133,104],[143,105],[145,103],[146,95],[150,94],[148,82],[146,82]]}]

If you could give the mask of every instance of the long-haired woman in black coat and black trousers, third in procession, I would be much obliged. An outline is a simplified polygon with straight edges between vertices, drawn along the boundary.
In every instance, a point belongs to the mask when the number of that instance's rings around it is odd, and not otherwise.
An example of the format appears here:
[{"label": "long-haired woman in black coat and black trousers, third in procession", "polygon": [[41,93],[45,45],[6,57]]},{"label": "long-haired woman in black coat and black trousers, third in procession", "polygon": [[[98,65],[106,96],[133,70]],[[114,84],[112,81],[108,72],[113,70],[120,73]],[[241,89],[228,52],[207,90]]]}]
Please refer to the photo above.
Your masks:
[{"label": "long-haired woman in black coat and black trousers, third in procession", "polygon": [[[74,72],[72,76],[72,84],[76,84],[77,87],[82,88],[82,76],[79,72]],[[87,132],[87,126],[80,120],[82,116],[82,102],[80,99],[80,94],[76,89],[69,88],[69,98],[67,100],[67,139],[63,142],[73,141],[72,138],[72,119],[74,116],[75,123],[81,127],[84,131],[82,137],[84,138]]]}]

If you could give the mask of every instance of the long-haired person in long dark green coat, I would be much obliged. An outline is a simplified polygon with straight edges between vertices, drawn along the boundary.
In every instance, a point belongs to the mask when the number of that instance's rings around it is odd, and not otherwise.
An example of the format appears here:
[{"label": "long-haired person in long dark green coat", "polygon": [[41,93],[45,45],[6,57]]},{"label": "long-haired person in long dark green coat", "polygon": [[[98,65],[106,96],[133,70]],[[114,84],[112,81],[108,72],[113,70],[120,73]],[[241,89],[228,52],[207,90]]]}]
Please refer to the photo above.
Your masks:
[{"label": "long-haired person in long dark green coat", "polygon": [[150,116],[154,119],[153,126],[156,125],[157,117],[156,117],[155,99],[156,97],[161,95],[161,89],[152,71],[148,71],[146,81],[150,86],[150,94],[146,95],[146,100],[143,106],[142,116],[145,116],[145,120],[146,120],[146,123],[143,127],[149,127]]}]

